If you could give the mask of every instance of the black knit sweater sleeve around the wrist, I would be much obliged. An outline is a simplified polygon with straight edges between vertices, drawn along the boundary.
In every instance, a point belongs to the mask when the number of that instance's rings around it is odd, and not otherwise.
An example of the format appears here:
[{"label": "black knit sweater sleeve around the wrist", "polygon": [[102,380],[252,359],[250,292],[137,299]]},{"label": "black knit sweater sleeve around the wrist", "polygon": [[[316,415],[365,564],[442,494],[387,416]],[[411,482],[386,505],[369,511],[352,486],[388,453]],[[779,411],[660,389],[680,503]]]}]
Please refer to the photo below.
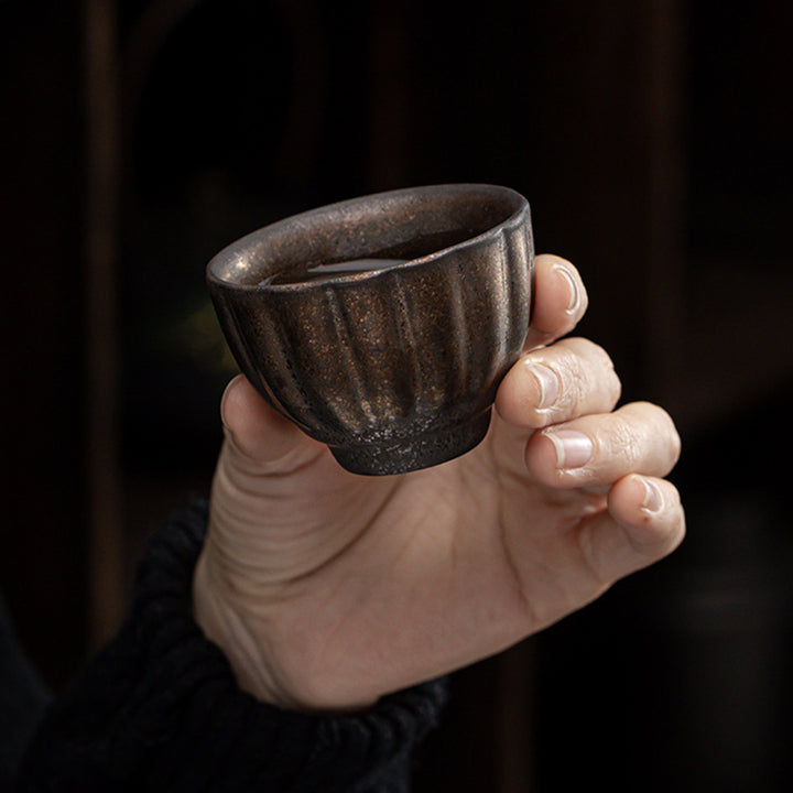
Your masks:
[{"label": "black knit sweater sleeve around the wrist", "polygon": [[259,703],[193,620],[205,526],[206,503],[196,503],[153,537],[129,619],[50,708],[19,790],[408,791],[412,750],[436,723],[443,683],[355,715]]}]

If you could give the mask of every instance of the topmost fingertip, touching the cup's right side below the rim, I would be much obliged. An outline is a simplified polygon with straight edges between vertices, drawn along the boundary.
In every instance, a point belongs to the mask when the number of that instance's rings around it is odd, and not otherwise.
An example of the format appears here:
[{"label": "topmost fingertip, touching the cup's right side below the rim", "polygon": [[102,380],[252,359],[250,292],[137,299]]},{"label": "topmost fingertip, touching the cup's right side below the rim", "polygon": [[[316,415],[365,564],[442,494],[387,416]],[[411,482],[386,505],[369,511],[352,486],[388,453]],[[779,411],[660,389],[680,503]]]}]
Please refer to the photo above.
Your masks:
[{"label": "topmost fingertip, touching the cup's right side below the rim", "polygon": [[580,322],[589,304],[578,270],[566,259],[548,253],[534,260],[533,302],[523,345],[526,351],[566,336]]}]

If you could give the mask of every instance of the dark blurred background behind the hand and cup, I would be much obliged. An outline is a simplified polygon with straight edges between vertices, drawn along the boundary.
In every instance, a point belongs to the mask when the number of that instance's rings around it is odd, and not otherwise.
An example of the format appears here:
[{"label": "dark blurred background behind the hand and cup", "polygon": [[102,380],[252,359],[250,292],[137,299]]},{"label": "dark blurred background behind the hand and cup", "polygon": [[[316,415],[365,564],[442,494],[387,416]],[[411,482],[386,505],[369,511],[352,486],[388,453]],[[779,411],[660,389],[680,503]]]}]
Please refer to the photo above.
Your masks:
[{"label": "dark blurred background behind the hand and cup", "polygon": [[0,4],[0,582],[61,687],[206,492],[233,365],[203,282],[318,204],[482,181],[675,416],[688,539],[453,678],[419,791],[793,789],[793,4]]}]

